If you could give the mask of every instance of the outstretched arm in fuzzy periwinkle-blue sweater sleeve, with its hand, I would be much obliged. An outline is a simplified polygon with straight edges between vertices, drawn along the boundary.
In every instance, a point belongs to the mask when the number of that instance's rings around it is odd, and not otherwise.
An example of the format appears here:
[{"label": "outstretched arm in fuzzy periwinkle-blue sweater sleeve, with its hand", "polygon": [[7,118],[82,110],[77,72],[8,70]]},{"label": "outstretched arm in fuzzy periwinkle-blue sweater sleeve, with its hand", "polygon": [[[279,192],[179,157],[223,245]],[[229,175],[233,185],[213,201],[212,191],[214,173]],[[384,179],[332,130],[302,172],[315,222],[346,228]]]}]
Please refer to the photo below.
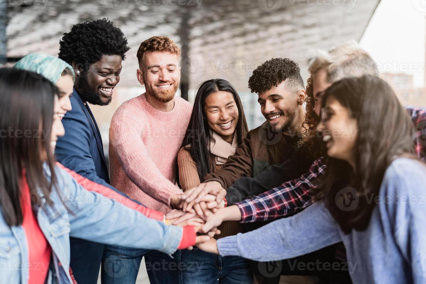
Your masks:
[{"label": "outstretched arm in fuzzy periwinkle-blue sweater sleeve, with its hand", "polygon": [[323,203],[317,202],[303,212],[276,220],[252,232],[197,246],[223,256],[276,261],[304,255],[340,241],[338,224]]}]

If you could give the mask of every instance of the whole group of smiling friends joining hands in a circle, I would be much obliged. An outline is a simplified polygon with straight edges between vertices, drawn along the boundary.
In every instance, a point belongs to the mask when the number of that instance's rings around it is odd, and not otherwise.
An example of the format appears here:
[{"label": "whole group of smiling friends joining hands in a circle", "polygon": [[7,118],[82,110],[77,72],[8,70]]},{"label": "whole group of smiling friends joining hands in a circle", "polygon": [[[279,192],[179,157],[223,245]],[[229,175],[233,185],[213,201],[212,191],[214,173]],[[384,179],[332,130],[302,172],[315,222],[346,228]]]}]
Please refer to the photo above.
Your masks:
[{"label": "whole group of smiling friends joining hands in a circle", "polygon": [[142,258],[158,284],[426,283],[426,109],[357,43],[319,52],[307,86],[291,59],[259,65],[249,131],[230,82],[192,105],[179,47],[144,40],[108,164],[89,104],[111,102],[129,49],[101,19],[0,69],[1,283],[135,283]]}]

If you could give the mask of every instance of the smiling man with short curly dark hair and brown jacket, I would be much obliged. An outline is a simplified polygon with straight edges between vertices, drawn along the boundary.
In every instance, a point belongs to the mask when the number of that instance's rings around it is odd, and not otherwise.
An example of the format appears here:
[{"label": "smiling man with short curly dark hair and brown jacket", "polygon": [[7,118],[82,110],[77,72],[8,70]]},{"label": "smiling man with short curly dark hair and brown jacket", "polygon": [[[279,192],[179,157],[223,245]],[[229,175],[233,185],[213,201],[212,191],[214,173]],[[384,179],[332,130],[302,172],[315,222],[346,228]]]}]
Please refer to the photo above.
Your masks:
[{"label": "smiling man with short curly dark hair and brown jacket", "polygon": [[[305,118],[306,99],[298,64],[288,58],[267,60],[253,71],[248,87],[258,95],[265,123],[248,132],[247,138],[222,169],[206,175],[204,183],[185,193],[188,198],[184,207],[190,207],[192,197],[199,192],[208,192],[212,188],[228,188],[242,177],[254,178],[269,166],[282,164],[297,149]],[[265,224],[250,224],[247,229],[256,229]],[[257,278],[262,278],[263,283],[278,283],[279,275],[265,279],[266,275],[262,275],[265,273],[259,272],[260,266],[262,265],[257,262],[252,266]]]}]

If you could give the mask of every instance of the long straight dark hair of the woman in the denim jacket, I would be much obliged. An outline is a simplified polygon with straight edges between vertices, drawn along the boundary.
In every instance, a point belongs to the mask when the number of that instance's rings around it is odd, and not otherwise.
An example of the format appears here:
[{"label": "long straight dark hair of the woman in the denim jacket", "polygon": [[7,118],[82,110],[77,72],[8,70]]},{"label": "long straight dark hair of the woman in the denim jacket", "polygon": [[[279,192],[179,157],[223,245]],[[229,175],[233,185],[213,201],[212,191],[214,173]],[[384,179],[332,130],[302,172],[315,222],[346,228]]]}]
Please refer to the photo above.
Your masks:
[{"label": "long straight dark hair of the woman in the denim jacket", "polygon": [[[55,184],[55,159],[50,134],[56,86],[33,72],[0,69],[0,206],[9,226],[23,222],[20,205],[25,171],[32,205],[41,206],[39,193],[51,204]],[[46,159],[47,155],[47,159]],[[44,163],[52,173],[45,177]]]}]

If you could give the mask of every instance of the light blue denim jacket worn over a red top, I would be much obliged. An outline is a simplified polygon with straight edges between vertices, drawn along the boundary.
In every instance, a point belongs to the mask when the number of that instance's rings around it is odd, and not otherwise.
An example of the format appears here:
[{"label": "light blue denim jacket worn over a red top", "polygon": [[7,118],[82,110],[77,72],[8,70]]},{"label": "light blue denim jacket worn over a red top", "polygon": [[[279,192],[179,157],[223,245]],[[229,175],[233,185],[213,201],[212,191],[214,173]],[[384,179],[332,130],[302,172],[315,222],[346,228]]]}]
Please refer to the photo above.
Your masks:
[{"label": "light blue denim jacket worn over a red top", "polygon": [[[183,234],[181,227],[167,226],[98,192],[89,192],[59,166],[55,171],[58,182],[50,194],[52,204],[44,201],[36,209],[40,229],[52,248],[47,283],[72,283],[69,237],[165,253],[177,250]],[[47,166],[45,172],[50,178]],[[44,199],[37,188],[30,189],[30,194]],[[28,283],[28,255],[23,227],[9,227],[0,214],[1,284]]]}]

